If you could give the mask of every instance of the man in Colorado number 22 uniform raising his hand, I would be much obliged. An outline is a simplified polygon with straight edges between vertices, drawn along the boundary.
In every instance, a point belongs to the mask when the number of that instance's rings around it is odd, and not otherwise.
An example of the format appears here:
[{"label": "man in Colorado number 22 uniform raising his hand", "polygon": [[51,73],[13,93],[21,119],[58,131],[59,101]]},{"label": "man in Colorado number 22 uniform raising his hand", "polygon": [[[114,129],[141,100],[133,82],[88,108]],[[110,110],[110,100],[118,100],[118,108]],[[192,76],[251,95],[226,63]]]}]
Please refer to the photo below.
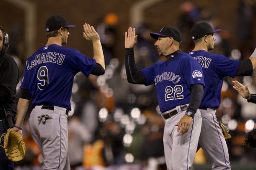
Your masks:
[{"label": "man in Colorado number 22 uniform raising his hand", "polygon": [[159,56],[167,61],[138,70],[134,61],[135,28],[125,32],[125,69],[128,82],[154,84],[162,117],[165,118],[164,148],[168,170],[190,170],[201,131],[198,107],[203,96],[204,76],[200,64],[180,50],[181,33],[175,27],[163,27],[150,33],[157,39]]}]

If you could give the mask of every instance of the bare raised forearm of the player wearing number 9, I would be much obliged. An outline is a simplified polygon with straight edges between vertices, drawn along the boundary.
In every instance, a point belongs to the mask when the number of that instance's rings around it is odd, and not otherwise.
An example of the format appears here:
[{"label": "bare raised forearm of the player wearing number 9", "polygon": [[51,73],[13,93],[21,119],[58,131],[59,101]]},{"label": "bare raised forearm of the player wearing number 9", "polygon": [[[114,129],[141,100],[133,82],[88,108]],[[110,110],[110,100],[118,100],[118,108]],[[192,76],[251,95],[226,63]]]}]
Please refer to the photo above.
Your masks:
[{"label": "bare raised forearm of the player wearing number 9", "polygon": [[93,44],[93,58],[96,63],[99,63],[105,69],[105,60],[103,55],[103,50],[100,41],[95,41]]}]

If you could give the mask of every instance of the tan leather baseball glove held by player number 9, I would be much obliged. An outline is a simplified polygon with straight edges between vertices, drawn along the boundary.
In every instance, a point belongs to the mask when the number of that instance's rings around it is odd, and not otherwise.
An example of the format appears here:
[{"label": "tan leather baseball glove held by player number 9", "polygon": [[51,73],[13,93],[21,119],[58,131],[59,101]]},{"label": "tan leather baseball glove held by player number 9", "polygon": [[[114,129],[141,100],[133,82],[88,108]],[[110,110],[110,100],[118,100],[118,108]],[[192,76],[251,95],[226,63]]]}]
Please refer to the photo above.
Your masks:
[{"label": "tan leather baseball glove held by player number 9", "polygon": [[12,131],[11,128],[7,130],[6,134],[2,134],[1,139],[2,137],[4,138],[2,147],[5,149],[5,155],[8,159],[13,162],[23,160],[26,156],[23,137],[18,132]]}]

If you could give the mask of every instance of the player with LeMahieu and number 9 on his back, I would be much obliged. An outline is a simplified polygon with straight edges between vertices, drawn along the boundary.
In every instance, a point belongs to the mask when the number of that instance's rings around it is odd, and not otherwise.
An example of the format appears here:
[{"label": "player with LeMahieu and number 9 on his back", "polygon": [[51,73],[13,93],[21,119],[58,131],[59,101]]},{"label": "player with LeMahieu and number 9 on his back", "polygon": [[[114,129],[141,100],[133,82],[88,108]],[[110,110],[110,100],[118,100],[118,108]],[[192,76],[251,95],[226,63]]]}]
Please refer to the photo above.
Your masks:
[{"label": "player with LeMahieu and number 9 on his back", "polygon": [[67,126],[74,76],[79,71],[86,77],[104,74],[102,46],[94,27],[84,24],[84,38],[93,44],[93,59],[62,46],[67,43],[68,28],[74,26],[68,25],[60,15],[53,15],[46,21],[48,42],[26,60],[20,87],[22,94],[13,130],[22,133],[24,116],[32,98],[34,109],[29,126],[44,157],[45,170],[70,170]]}]

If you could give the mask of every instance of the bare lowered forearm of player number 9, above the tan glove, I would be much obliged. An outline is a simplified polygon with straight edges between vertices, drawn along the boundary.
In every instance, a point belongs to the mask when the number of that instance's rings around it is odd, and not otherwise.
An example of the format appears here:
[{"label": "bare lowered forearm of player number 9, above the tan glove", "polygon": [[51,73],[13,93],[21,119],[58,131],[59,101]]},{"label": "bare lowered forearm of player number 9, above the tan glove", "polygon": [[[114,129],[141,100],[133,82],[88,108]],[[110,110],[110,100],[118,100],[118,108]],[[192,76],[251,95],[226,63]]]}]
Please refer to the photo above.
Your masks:
[{"label": "bare lowered forearm of player number 9, above the tan glove", "polygon": [[29,100],[20,98],[18,100],[17,117],[15,125],[22,127],[26,112],[29,107]]}]

